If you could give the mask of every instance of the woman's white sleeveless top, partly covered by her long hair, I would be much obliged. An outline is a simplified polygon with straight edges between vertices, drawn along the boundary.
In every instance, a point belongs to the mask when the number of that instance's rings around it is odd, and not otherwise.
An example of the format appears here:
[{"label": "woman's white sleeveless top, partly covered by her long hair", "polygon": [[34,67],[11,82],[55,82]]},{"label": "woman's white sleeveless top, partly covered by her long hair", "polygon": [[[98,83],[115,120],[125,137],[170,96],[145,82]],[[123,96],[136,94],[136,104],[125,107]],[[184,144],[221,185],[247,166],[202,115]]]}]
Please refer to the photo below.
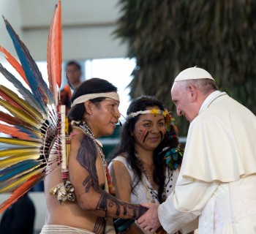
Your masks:
[{"label": "woman's white sleeveless top, partly covered by her long hair", "polygon": [[[135,186],[135,175],[132,171],[130,165],[127,164],[127,159],[124,156],[116,156],[113,161],[119,161],[124,164],[129,172],[129,176],[131,177],[132,184],[131,186]],[[111,163],[109,167],[111,167]],[[174,186],[176,184],[178,178],[178,170],[170,170],[169,167],[166,167],[165,170],[165,187],[166,187],[166,195],[170,195],[173,192]],[[146,186],[145,186],[146,184]],[[143,181],[140,181],[134,188],[133,193],[131,194],[131,203],[140,204],[140,203],[151,203],[151,197],[149,195],[151,185],[149,184],[146,176],[143,174]],[[158,195],[157,190],[154,189],[154,195]],[[154,200],[155,203],[159,203],[157,199]]]}]

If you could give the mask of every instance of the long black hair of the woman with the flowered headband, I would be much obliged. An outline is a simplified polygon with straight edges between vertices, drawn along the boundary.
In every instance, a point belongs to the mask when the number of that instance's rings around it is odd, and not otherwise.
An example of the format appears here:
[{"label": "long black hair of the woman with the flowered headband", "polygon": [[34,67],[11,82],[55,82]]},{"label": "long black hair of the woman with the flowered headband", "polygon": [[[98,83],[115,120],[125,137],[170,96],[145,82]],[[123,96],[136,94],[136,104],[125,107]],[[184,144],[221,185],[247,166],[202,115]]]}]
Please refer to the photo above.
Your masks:
[{"label": "long black hair of the woman with the flowered headband", "polygon": [[[146,110],[147,107],[159,107],[160,110],[165,110],[164,105],[157,98],[151,96],[141,96],[137,99],[133,99],[127,110],[127,116],[129,113],[135,113],[139,110]],[[140,162],[135,156],[135,140],[132,137],[132,131],[135,129],[135,124],[138,121],[140,115],[134,118],[129,118],[121,127],[121,141],[118,147],[113,151],[112,158],[120,154],[127,154],[127,162],[131,166],[135,173],[135,186],[142,179],[143,169],[140,167]],[[157,147],[158,148],[158,147]],[[158,198],[159,202],[162,202],[162,193],[164,191],[165,184],[165,162],[159,158],[158,150],[154,151],[154,181],[158,184]],[[134,187],[132,187],[132,191]]]}]

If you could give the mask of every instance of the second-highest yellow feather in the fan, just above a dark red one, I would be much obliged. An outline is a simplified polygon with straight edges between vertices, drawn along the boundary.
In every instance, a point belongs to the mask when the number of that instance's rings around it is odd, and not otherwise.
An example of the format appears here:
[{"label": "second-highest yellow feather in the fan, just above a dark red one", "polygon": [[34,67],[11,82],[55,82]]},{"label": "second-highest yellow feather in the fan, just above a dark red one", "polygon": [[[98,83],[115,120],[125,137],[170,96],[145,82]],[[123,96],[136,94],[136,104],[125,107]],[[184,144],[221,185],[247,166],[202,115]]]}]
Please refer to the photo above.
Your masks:
[{"label": "second-highest yellow feather in the fan, just above a dark red one", "polygon": [[19,108],[12,106],[9,102],[4,101],[3,99],[0,99],[0,105],[9,110],[13,116],[20,118],[20,120],[30,124],[31,126],[37,127],[38,129],[41,127],[39,121],[32,116],[29,116],[29,114],[27,114],[24,110],[20,110]]}]

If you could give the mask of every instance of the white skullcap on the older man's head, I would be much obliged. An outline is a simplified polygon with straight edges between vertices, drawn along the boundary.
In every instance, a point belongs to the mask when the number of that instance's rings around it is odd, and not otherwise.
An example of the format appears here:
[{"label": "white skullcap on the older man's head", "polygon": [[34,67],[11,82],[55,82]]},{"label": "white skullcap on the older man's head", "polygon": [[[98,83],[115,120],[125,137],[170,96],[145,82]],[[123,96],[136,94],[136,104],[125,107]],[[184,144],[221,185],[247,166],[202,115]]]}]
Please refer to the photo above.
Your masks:
[{"label": "white skullcap on the older man's head", "polygon": [[211,77],[211,74],[207,72],[205,69],[199,67],[189,67],[184,69],[178,76],[175,78],[174,82],[181,80],[195,80],[195,79],[210,79],[214,80]]}]

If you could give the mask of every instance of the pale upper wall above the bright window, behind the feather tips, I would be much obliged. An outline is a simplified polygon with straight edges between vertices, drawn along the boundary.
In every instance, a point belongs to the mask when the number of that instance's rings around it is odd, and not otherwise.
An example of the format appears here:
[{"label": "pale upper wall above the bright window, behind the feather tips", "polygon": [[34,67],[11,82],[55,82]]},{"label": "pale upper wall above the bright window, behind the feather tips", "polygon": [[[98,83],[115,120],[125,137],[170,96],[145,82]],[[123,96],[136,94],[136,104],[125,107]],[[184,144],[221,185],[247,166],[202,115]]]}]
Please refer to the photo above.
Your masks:
[{"label": "pale upper wall above the bright window, behind the feather tips", "polygon": [[[0,0],[0,14],[18,31],[36,61],[46,60],[48,29],[56,3],[57,0]],[[62,0],[64,61],[126,56],[126,45],[113,36],[120,14],[117,4],[118,0]],[[0,45],[14,51],[0,20],[2,34]]]}]

